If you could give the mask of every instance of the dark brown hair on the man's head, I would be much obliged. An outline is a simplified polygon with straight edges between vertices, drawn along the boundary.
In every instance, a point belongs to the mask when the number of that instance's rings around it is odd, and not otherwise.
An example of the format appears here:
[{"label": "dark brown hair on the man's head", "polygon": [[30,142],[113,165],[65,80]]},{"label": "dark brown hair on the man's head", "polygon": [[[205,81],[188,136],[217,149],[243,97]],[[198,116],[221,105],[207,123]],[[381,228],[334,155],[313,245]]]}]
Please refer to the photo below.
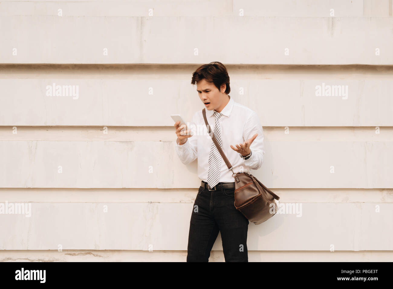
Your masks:
[{"label": "dark brown hair on the man's head", "polygon": [[209,64],[199,66],[193,73],[191,84],[195,84],[202,79],[205,79],[207,82],[214,83],[219,91],[221,91],[221,85],[226,84],[226,94],[229,94],[231,91],[228,71],[221,62],[210,62]]}]

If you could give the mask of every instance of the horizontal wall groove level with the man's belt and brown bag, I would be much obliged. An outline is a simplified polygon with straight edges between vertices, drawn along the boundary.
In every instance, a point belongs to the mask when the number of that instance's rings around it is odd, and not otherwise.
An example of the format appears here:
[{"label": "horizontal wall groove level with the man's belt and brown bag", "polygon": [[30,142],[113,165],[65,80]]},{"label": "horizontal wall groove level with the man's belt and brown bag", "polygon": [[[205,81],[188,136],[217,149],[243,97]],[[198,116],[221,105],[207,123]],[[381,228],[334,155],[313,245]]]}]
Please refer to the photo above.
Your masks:
[{"label": "horizontal wall groove level with the man's belt and brown bag", "polygon": [[[281,203],[393,203],[385,188],[270,188]],[[198,188],[0,188],[0,202],[193,203]]]}]

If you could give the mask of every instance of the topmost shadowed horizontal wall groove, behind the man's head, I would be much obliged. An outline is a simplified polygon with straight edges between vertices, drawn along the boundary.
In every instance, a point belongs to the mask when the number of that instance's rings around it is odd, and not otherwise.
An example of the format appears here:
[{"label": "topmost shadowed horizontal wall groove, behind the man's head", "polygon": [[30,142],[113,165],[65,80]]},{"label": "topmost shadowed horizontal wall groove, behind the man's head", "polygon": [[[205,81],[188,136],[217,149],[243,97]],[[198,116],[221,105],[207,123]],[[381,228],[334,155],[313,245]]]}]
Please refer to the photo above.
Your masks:
[{"label": "topmost shadowed horizontal wall groove, behind the man's head", "polygon": [[[231,79],[378,79],[393,78],[393,65],[226,64]],[[189,79],[195,64],[0,64],[0,78]],[[190,84],[191,85],[191,84]]]}]

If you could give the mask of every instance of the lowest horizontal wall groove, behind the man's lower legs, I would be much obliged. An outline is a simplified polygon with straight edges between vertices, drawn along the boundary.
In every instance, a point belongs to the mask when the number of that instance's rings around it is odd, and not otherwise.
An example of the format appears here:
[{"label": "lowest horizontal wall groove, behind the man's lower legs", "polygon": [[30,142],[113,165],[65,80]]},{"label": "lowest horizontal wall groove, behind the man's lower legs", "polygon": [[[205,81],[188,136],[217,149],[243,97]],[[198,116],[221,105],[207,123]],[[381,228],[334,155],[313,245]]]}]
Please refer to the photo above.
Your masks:
[{"label": "lowest horizontal wall groove, behind the man's lower legs", "polygon": [[[393,251],[248,251],[249,262],[391,262]],[[185,262],[178,250],[2,250],[0,262]],[[209,262],[224,262],[224,253],[212,250]]]}]

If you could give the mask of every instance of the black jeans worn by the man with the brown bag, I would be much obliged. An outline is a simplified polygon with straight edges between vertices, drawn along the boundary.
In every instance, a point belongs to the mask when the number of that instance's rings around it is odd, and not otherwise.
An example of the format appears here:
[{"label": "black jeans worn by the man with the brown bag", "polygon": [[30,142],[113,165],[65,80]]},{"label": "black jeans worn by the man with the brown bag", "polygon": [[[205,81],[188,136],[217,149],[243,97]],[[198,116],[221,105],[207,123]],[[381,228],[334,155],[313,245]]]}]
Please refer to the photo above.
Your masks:
[{"label": "black jeans worn by the man with the brown bag", "polygon": [[199,187],[190,220],[187,262],[209,262],[221,233],[225,262],[248,262],[248,219],[235,209],[235,188],[209,191]]}]

